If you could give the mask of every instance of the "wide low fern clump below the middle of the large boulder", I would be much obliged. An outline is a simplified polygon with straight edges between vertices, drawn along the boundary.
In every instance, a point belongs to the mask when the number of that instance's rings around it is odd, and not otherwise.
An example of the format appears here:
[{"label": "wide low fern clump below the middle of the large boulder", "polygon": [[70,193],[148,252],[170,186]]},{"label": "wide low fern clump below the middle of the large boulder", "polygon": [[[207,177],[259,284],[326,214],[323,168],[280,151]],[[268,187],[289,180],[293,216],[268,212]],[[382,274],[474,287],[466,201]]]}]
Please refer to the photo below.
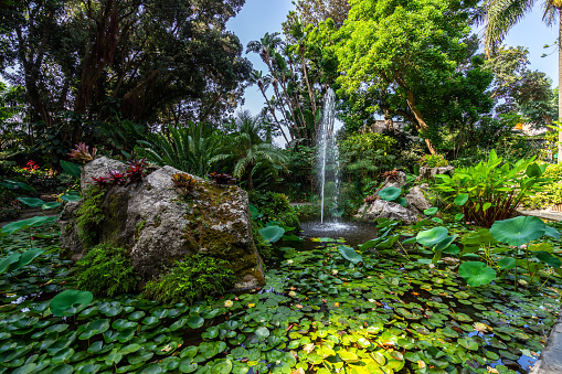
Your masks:
[{"label": "wide low fern clump below the middle of the large boulder", "polygon": [[170,271],[146,285],[145,295],[170,303],[190,303],[205,296],[225,292],[236,280],[227,266],[225,260],[201,255],[176,261]]}]

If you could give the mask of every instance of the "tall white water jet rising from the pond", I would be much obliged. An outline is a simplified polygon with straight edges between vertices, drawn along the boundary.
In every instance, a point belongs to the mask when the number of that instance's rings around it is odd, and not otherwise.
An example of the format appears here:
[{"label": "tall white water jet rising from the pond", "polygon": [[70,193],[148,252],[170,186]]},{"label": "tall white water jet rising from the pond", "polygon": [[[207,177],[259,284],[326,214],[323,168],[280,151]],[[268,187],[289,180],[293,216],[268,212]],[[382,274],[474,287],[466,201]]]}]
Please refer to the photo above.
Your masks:
[{"label": "tall white water jet rising from the pond", "polygon": [[[320,185],[320,222],[324,223],[326,202],[338,206],[339,152],[333,129],[336,94],[328,88],[322,119],[317,133],[317,177]],[[327,185],[329,191],[327,191]]]}]

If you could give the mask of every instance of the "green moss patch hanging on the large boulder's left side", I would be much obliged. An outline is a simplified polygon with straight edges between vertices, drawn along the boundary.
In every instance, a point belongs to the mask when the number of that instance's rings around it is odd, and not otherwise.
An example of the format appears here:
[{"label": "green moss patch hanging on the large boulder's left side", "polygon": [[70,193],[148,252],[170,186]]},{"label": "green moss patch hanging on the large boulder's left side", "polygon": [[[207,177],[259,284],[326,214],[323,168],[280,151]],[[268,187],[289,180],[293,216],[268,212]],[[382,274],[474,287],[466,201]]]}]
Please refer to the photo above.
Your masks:
[{"label": "green moss patch hanging on the large boulder's left side", "polygon": [[96,244],[99,236],[99,224],[105,215],[102,211],[106,191],[97,186],[91,186],[84,192],[84,202],[76,212],[76,225],[78,237],[85,249]]}]

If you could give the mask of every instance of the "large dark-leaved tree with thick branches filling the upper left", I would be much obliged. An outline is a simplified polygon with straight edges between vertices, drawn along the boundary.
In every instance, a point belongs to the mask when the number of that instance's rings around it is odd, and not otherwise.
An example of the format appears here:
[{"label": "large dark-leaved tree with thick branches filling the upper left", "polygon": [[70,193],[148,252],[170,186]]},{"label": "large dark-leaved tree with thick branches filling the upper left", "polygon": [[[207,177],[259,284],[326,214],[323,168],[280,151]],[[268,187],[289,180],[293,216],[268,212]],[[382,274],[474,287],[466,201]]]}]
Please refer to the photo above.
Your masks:
[{"label": "large dark-leaved tree with thick branches filling the upper left", "polygon": [[[226,21],[245,0],[22,0],[0,18],[0,67],[32,119],[156,121],[170,105],[209,119],[241,99],[251,64]],[[11,67],[15,66],[15,70]],[[181,105],[180,105],[181,109]]]}]

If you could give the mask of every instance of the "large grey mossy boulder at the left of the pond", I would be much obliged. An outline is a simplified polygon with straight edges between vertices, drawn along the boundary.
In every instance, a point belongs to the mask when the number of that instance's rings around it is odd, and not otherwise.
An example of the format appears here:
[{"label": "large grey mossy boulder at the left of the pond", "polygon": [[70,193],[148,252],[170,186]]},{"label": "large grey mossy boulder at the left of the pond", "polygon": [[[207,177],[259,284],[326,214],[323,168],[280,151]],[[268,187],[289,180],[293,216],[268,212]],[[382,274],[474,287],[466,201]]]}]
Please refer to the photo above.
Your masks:
[{"label": "large grey mossy boulder at the left of the pond", "polygon": [[199,254],[226,260],[236,275],[237,289],[264,282],[244,190],[193,177],[193,190],[182,196],[172,182],[172,175],[181,171],[171,167],[153,171],[140,183],[105,188],[93,183],[93,177],[125,169],[124,163],[108,158],[84,165],[81,188],[85,197],[67,203],[60,218],[64,253],[79,259],[98,244],[126,248],[145,281]]}]

